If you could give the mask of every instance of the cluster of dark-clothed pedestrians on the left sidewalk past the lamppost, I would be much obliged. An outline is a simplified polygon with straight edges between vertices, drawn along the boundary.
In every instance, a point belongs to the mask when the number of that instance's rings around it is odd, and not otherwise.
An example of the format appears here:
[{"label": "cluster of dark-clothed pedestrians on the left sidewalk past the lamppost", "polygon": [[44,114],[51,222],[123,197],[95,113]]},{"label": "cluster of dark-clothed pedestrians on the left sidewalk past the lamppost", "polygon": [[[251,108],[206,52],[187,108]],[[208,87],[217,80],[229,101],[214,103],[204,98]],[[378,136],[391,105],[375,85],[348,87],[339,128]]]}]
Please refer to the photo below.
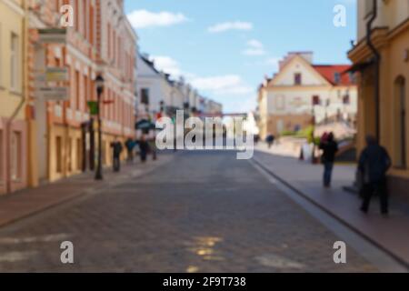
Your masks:
[{"label": "cluster of dark-clothed pedestrians on the left sidewalk past the lamppost", "polygon": [[[145,135],[142,135],[139,140],[133,140],[132,138],[128,138],[125,141],[125,147],[127,152],[127,159],[128,163],[134,162],[135,157],[135,148],[136,146],[139,147],[139,156],[142,163],[146,162],[147,155],[150,153],[153,156],[153,159],[156,160],[156,146],[155,141],[148,140]],[[120,141],[115,139],[114,142],[111,143],[112,148],[112,155],[113,155],[113,168],[114,172],[119,172],[121,170],[121,154],[124,151],[124,146]]]}]

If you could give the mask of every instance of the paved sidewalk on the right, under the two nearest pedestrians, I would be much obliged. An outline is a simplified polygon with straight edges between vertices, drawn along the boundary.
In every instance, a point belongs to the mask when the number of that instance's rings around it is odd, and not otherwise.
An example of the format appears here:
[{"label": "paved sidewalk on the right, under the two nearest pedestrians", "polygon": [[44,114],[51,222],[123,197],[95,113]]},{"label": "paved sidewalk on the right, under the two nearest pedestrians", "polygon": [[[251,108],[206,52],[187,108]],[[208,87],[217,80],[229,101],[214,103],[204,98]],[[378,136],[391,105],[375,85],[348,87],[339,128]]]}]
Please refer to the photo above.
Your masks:
[{"label": "paved sidewalk on the right, under the two nearest pedestrians", "polygon": [[369,215],[365,216],[359,211],[360,198],[343,189],[354,182],[354,165],[336,165],[333,187],[324,189],[323,168],[320,165],[293,157],[276,156],[264,144],[256,146],[254,160],[316,206],[409,266],[409,206],[391,195],[389,217],[380,215],[377,199],[372,202]]}]

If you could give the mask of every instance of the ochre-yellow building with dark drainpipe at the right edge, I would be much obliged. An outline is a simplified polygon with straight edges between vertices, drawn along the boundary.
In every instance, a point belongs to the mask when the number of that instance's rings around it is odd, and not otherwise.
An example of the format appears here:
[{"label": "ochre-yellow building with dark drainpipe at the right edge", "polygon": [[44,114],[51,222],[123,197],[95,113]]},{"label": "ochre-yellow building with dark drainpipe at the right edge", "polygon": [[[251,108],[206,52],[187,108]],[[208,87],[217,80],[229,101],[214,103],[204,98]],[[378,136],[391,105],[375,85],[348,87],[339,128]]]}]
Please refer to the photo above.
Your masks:
[{"label": "ochre-yellow building with dark drainpipe at the right edge", "polygon": [[363,149],[365,135],[376,135],[393,159],[391,194],[407,195],[409,1],[358,1],[358,17],[358,43],[349,52],[360,73],[358,149]]}]

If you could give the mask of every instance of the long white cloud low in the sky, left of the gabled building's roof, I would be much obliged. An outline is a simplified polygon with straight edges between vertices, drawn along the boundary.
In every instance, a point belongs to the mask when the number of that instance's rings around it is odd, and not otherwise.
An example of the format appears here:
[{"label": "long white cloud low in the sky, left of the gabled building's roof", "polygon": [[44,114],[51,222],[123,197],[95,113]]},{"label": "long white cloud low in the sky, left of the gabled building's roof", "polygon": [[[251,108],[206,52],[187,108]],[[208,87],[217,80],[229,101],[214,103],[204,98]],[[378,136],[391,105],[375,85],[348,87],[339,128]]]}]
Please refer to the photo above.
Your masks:
[{"label": "long white cloud low in the sky, left of the gabled building's roof", "polygon": [[191,83],[197,89],[210,91],[215,95],[245,95],[254,92],[254,88],[245,85],[239,75],[197,77]]}]

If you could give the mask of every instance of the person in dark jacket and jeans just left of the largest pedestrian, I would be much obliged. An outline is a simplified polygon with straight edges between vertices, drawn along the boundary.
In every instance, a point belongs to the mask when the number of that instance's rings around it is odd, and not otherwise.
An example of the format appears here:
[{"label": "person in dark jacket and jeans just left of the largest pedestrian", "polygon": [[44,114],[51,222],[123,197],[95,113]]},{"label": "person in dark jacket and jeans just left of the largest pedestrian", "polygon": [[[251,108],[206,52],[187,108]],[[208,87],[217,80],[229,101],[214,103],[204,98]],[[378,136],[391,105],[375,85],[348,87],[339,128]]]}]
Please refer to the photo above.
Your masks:
[{"label": "person in dark jacket and jeans just left of the largest pedestrian", "polygon": [[324,165],[324,187],[331,187],[331,179],[333,176],[335,154],[338,152],[338,144],[334,140],[334,134],[330,133],[326,138],[322,138],[320,149],[323,150],[321,157]]}]

